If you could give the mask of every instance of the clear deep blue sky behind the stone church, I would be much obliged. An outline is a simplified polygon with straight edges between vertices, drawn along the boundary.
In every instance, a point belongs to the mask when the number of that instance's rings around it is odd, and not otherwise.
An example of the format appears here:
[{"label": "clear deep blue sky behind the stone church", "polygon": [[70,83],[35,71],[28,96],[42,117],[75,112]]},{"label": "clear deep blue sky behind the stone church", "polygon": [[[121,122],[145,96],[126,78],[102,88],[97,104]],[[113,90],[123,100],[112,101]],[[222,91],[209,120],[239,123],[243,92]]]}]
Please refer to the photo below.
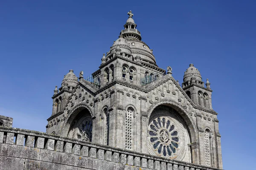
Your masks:
[{"label": "clear deep blue sky behind the stone church", "polygon": [[45,131],[55,85],[96,71],[132,10],[161,68],[193,63],[211,83],[224,169],[256,169],[256,1],[9,0],[0,2],[0,115]]}]

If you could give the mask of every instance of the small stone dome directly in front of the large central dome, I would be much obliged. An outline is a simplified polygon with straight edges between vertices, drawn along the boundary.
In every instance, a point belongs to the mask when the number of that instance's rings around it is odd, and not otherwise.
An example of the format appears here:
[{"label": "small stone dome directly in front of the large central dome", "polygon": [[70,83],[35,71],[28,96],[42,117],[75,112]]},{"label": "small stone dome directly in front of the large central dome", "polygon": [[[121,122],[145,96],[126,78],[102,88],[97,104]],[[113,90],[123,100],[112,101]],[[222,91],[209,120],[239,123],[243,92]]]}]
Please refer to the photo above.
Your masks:
[{"label": "small stone dome directly in front of the large central dome", "polygon": [[110,48],[110,53],[115,53],[115,49],[117,47],[119,47],[122,52],[131,54],[131,47],[129,46],[128,42],[124,39],[122,35],[120,35],[119,38],[113,43],[112,47]]}]

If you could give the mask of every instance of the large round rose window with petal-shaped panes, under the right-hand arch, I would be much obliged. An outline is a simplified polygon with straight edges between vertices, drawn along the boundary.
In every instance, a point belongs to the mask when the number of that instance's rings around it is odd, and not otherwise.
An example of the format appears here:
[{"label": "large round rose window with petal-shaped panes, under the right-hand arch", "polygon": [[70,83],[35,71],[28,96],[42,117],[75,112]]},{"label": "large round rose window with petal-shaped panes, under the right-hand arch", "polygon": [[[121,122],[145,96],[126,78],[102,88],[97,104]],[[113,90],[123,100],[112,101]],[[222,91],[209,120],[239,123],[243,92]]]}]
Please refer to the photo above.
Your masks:
[{"label": "large round rose window with petal-shaped panes, under the right-hand arch", "polygon": [[185,128],[175,116],[154,116],[151,119],[148,125],[148,150],[151,155],[182,160],[186,145]]}]

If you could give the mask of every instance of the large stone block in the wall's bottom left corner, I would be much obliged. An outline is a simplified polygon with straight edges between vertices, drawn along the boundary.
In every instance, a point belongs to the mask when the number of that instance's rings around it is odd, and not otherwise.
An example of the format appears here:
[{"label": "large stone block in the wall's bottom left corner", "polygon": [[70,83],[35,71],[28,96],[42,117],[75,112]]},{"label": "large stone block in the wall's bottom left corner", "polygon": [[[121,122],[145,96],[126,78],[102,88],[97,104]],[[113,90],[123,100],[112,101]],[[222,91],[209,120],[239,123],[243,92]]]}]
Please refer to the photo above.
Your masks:
[{"label": "large stone block in the wall's bottom left corner", "polygon": [[25,159],[0,156],[0,170],[23,170]]}]

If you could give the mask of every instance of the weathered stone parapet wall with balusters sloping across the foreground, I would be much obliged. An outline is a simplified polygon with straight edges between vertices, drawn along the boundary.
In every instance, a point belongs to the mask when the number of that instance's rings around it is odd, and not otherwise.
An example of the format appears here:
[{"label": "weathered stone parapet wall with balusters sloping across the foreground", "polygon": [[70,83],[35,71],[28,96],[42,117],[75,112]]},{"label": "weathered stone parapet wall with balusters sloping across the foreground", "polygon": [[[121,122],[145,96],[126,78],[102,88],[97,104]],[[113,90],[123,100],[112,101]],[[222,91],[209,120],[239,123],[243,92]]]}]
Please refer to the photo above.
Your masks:
[{"label": "weathered stone parapet wall with balusters sloping across the foreground", "polygon": [[219,170],[32,130],[0,127],[0,170]]}]

